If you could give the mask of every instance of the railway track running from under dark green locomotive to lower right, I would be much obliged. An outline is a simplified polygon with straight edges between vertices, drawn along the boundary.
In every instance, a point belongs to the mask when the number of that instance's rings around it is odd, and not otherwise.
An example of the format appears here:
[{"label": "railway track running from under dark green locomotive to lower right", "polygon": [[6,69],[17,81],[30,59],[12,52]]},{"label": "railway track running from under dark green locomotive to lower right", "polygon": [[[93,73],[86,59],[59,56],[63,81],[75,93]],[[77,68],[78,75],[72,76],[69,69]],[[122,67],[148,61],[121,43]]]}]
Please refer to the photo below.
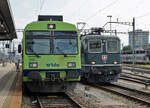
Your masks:
[{"label": "railway track running from under dark green locomotive to lower right", "polygon": [[150,107],[150,93],[123,87],[120,85],[111,84],[108,86],[94,85],[97,88],[117,94],[119,96],[126,97],[133,102],[138,102],[140,104]]}]

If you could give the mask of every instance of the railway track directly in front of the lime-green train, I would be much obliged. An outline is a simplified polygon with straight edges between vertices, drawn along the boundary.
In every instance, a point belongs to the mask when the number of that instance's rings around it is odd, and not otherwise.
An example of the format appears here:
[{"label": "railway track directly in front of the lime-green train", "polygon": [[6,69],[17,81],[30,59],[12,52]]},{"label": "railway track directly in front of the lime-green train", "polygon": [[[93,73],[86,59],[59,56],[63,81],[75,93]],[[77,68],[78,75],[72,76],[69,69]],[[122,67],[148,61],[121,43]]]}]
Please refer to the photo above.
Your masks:
[{"label": "railway track directly in front of the lime-green train", "polygon": [[36,100],[32,108],[81,108],[66,94],[36,96]]}]

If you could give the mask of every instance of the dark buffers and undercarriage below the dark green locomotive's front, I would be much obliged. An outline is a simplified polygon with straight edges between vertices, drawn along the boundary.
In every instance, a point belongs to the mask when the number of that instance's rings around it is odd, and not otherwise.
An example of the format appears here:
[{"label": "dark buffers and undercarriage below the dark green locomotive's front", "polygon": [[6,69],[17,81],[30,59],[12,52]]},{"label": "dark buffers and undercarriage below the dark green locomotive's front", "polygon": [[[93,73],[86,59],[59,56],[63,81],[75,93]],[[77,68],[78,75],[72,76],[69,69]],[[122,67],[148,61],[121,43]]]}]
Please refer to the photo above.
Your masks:
[{"label": "dark buffers and undercarriage below the dark green locomotive's front", "polygon": [[121,67],[83,67],[82,80],[92,83],[117,82]]}]

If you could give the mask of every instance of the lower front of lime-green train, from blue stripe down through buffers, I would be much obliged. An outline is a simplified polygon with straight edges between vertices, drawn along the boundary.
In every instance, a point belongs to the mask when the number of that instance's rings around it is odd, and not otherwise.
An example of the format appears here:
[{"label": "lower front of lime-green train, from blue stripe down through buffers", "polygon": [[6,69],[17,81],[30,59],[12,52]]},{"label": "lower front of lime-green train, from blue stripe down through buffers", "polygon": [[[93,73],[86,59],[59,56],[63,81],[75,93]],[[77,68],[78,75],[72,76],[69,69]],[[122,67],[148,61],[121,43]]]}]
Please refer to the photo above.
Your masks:
[{"label": "lower front of lime-green train, from blue stripe down through buffers", "polygon": [[33,92],[65,92],[80,74],[80,69],[24,70],[23,84]]}]

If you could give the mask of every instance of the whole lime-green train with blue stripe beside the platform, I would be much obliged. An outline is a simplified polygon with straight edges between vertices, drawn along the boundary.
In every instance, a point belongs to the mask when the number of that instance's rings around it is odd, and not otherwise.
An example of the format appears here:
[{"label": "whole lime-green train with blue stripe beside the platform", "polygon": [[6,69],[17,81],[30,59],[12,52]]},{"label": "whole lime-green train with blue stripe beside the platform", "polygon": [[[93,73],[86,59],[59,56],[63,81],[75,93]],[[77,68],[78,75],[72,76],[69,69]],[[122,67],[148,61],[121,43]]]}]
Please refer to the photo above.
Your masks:
[{"label": "whole lime-green train with blue stripe beside the platform", "polygon": [[80,38],[62,16],[39,16],[23,33],[23,86],[32,92],[64,92],[80,81]]}]

